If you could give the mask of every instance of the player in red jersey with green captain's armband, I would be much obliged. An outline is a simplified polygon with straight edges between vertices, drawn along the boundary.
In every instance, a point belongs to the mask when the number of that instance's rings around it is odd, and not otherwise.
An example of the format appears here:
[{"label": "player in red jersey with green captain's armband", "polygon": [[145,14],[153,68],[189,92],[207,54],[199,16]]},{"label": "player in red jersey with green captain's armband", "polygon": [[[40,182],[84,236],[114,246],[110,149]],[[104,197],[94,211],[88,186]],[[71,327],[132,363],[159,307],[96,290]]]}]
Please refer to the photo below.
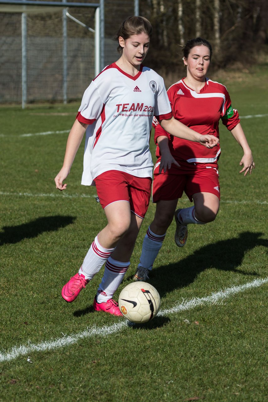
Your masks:
[{"label": "player in red jersey with green captain's armband", "polygon": [[[198,133],[212,134],[217,138],[221,120],[243,149],[240,173],[244,172],[245,176],[255,167],[252,152],[237,110],[231,106],[227,89],[207,78],[211,55],[211,45],[205,39],[199,37],[186,43],[183,48],[186,78],[168,89],[172,113],[175,119]],[[136,281],[149,279],[149,272],[174,216],[175,242],[183,247],[188,235],[187,225],[212,222],[220,203],[217,164],[220,145],[206,149],[187,139],[169,135],[156,120],[154,127],[158,160],[154,168],[152,198],[156,211],[143,240],[140,263],[133,277]],[[194,201],[194,206],[176,210],[183,191],[191,202]]]}]

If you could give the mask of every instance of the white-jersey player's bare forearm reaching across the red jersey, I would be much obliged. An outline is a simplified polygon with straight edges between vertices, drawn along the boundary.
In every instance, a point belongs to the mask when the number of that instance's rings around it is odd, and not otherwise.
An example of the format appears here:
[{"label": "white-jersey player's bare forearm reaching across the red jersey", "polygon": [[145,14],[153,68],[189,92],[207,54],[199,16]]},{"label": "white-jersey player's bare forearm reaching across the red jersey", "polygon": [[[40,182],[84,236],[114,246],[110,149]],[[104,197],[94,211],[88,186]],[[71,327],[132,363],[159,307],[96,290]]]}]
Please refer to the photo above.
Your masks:
[{"label": "white-jersey player's bare forearm reaching across the red jersey", "polygon": [[207,148],[213,148],[219,143],[219,139],[214,135],[201,135],[190,129],[180,121],[171,117],[168,120],[160,121],[161,127],[174,137],[188,139],[189,141],[198,142]]}]

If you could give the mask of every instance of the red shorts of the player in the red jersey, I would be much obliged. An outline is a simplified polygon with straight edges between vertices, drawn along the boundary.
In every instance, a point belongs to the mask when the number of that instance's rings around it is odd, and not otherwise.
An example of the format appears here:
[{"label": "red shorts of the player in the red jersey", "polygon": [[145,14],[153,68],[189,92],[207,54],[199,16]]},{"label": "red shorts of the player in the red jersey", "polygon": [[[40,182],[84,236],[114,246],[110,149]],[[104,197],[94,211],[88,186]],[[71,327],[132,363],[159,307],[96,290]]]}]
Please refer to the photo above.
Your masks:
[{"label": "red shorts of the player in the red jersey", "polygon": [[[158,159],[160,162],[160,159]],[[152,198],[153,202],[170,201],[181,198],[185,192],[192,202],[192,195],[196,193],[212,193],[220,199],[219,172],[215,167],[205,164],[178,161],[180,168],[172,167],[159,174],[159,163],[155,164],[153,171]]]}]

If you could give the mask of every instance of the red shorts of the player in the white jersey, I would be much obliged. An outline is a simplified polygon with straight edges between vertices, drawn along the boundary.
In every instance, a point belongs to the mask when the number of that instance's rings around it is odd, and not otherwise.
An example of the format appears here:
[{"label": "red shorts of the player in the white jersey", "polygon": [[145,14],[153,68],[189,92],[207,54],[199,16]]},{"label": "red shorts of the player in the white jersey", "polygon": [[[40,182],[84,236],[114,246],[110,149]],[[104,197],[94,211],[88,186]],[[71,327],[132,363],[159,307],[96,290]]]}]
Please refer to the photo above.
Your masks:
[{"label": "red shorts of the player in the white jersey", "polygon": [[94,179],[104,209],[115,201],[128,201],[130,210],[144,218],[151,196],[151,178],[137,177],[120,170],[108,170]]}]

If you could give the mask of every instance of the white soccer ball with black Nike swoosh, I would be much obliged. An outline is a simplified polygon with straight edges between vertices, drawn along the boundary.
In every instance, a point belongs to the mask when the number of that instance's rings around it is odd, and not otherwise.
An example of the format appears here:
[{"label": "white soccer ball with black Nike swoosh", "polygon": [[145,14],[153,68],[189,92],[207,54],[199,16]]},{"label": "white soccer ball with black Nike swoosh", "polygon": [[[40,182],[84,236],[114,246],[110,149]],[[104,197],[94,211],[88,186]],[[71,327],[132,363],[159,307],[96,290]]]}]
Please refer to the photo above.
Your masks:
[{"label": "white soccer ball with black Nike swoosh", "polygon": [[118,299],[123,316],[137,324],[152,320],[158,313],[160,304],[161,298],[155,287],[140,281],[124,287]]}]

